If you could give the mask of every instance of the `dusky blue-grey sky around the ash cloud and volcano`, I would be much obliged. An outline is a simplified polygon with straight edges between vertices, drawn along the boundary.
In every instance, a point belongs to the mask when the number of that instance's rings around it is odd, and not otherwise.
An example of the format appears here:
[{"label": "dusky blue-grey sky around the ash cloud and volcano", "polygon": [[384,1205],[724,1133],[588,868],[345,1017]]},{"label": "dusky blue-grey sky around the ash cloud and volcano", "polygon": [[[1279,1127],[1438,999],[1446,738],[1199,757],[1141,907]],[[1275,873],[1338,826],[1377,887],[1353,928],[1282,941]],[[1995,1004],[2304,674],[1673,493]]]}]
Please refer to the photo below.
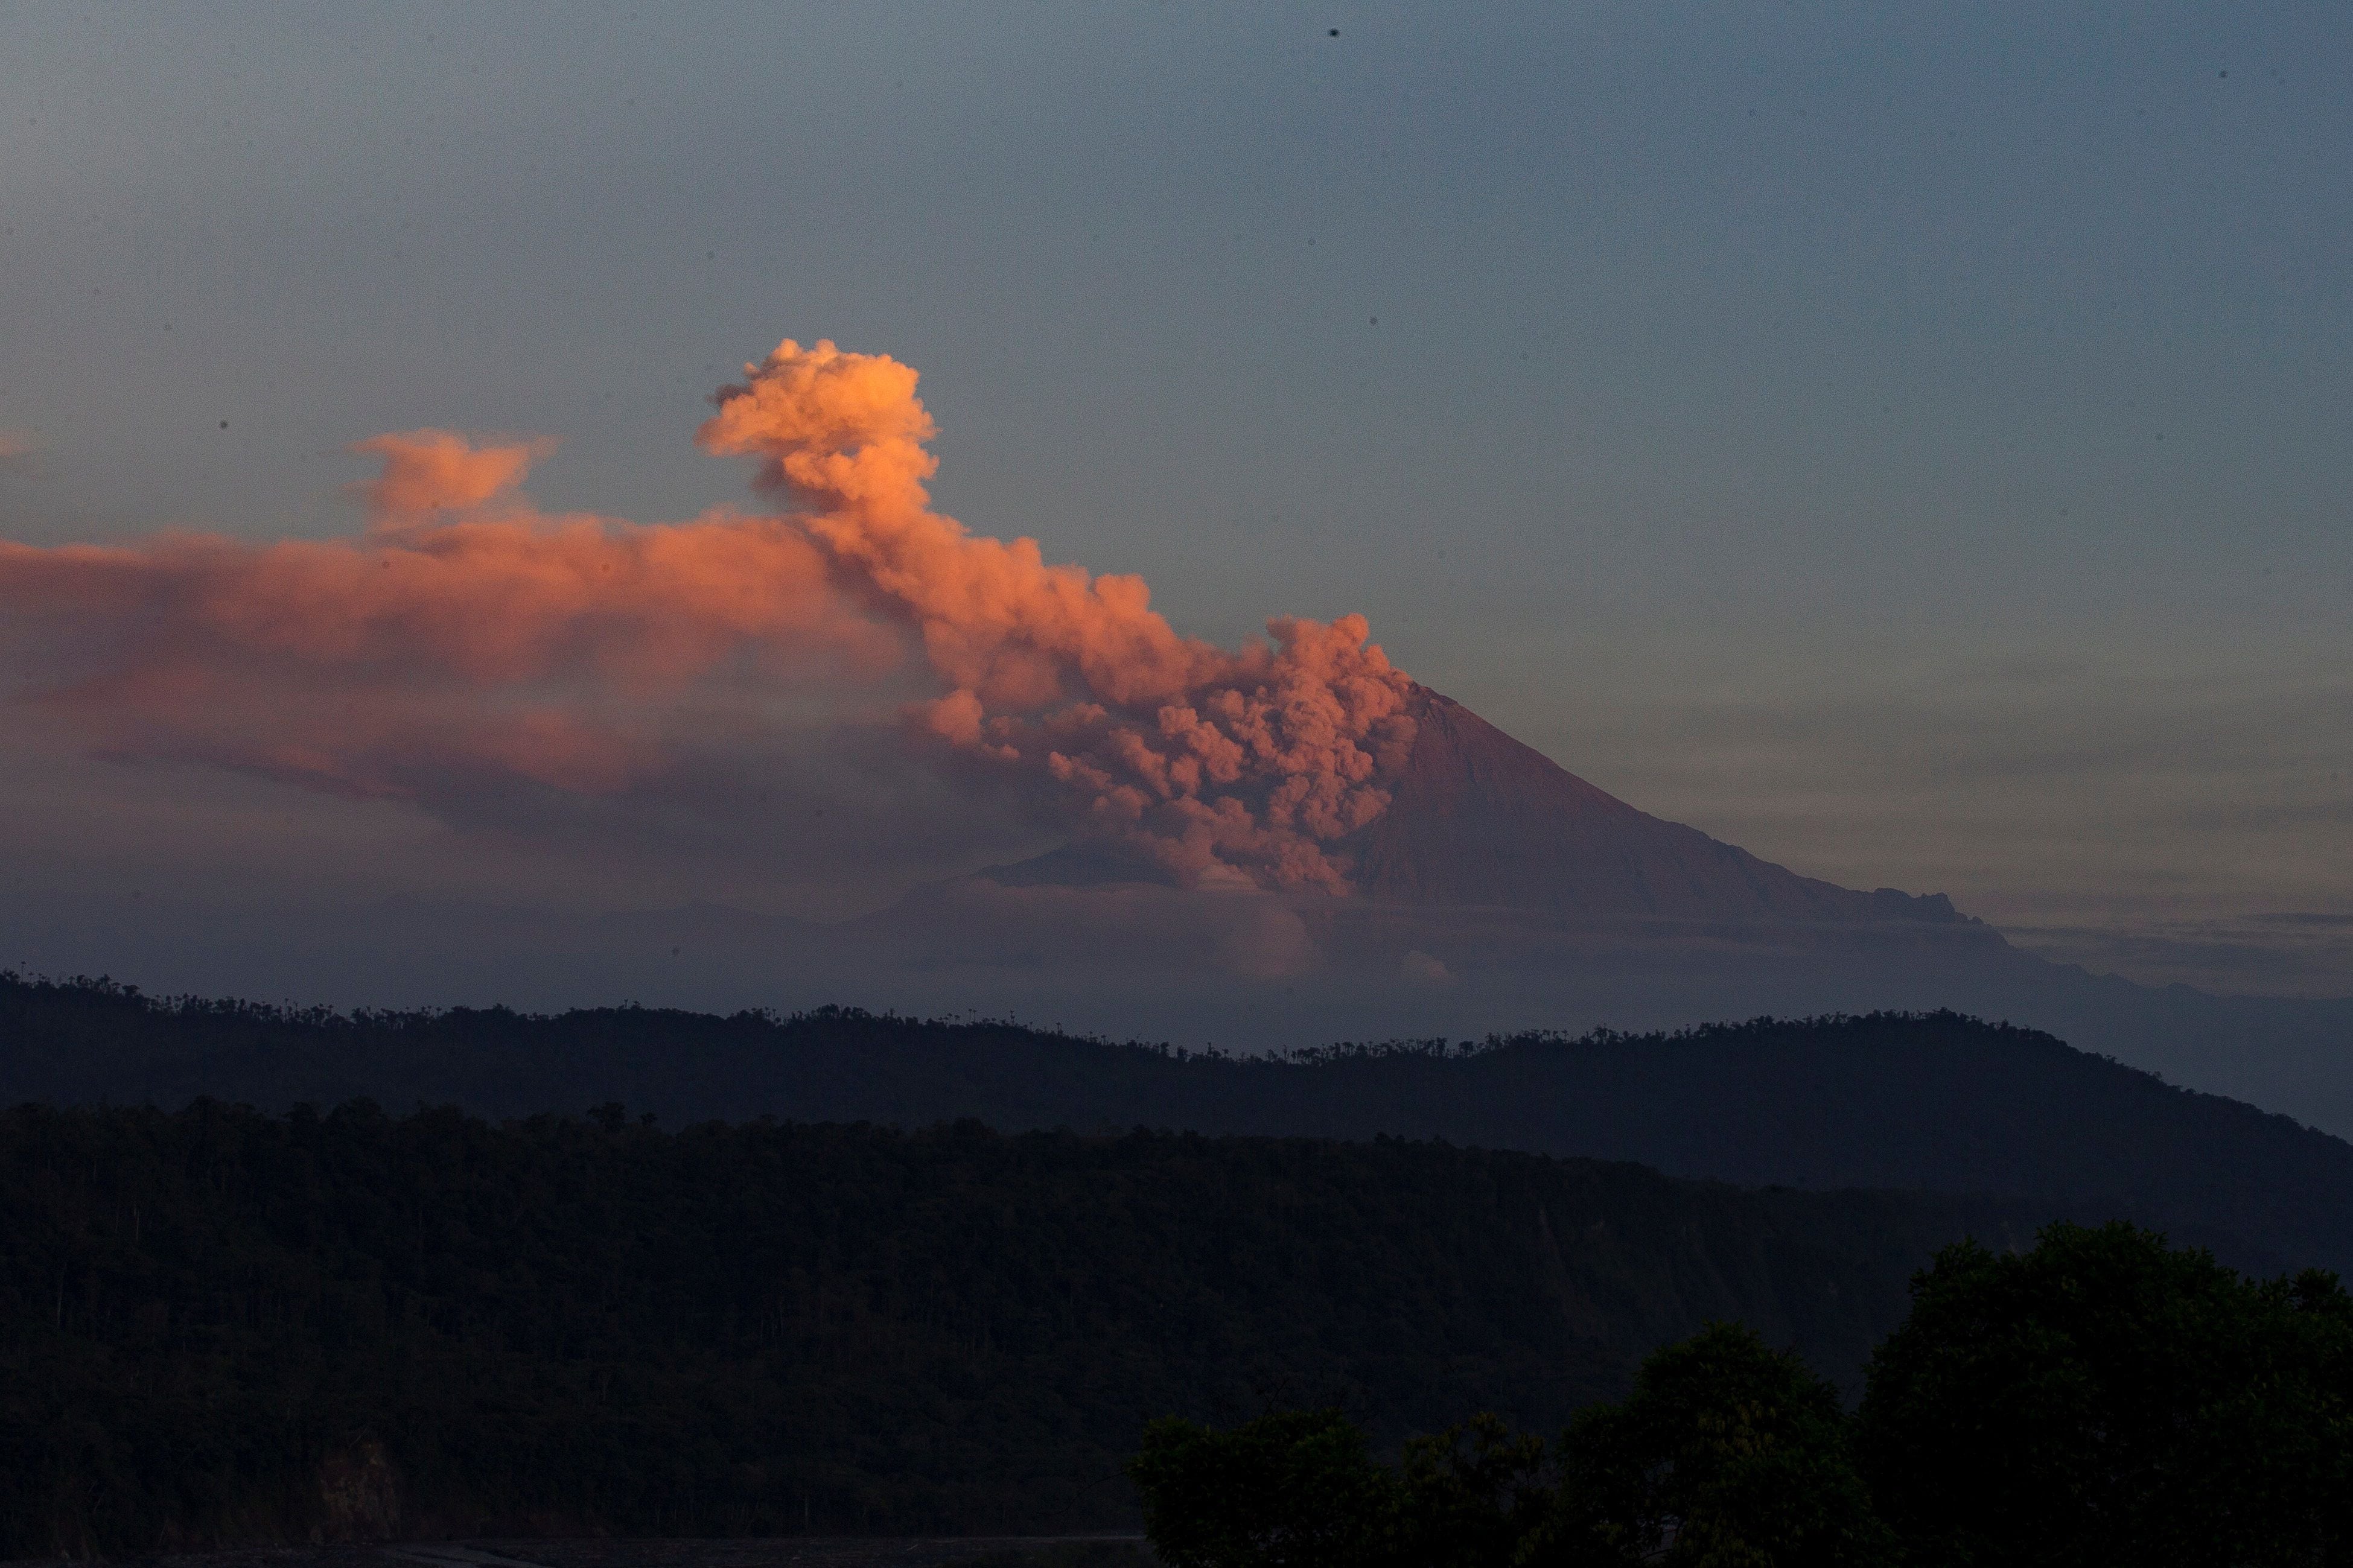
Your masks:
[{"label": "dusky blue-grey sky around the ash cloud and volcano", "polygon": [[[16,7],[0,541],[348,541],[419,428],[548,437],[534,515],[758,508],[708,397],[828,339],[920,371],[939,512],[1181,637],[1362,614],[1769,860],[2344,994],[2348,59],[2320,5]],[[1052,837],[748,701],[619,816],[14,701],[0,896],[847,914]]]}]

